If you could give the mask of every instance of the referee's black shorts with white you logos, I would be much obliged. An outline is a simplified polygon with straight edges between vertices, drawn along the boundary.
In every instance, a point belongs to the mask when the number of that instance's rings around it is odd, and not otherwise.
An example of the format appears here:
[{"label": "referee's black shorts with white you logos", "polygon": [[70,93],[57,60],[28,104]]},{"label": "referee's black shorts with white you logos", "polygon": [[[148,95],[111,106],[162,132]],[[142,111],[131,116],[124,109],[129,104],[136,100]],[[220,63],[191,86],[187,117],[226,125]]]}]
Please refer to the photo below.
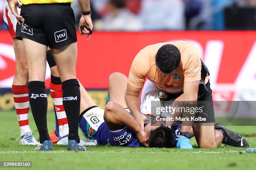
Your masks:
[{"label": "referee's black shorts with white you logos", "polygon": [[22,5],[24,23],[17,24],[16,36],[50,48],[77,42],[74,11],[70,3]]}]

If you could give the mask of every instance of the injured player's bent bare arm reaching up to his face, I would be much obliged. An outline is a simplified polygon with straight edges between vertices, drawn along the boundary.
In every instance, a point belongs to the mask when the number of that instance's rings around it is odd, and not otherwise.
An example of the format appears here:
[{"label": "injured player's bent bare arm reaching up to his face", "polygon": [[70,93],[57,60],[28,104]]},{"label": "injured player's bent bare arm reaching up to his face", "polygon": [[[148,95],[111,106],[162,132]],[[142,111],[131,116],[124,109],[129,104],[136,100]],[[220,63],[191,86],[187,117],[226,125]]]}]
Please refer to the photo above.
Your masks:
[{"label": "injured player's bent bare arm reaching up to his face", "polygon": [[[146,117],[145,117],[146,118]],[[140,125],[133,119],[127,110],[125,110],[121,105],[115,102],[108,102],[105,107],[104,120],[110,130],[116,130],[127,126],[131,128],[136,135],[140,143],[144,146],[148,146],[145,142],[145,132],[141,129]]]}]

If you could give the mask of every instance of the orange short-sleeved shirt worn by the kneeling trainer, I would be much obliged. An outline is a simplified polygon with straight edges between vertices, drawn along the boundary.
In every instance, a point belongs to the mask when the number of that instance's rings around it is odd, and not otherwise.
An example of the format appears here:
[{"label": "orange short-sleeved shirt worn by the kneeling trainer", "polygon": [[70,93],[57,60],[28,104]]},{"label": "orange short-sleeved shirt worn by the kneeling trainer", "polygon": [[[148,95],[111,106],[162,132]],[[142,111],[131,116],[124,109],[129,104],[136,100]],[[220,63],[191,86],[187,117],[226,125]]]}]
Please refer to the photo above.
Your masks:
[{"label": "orange short-sleeved shirt worn by the kneeling trainer", "polygon": [[[155,56],[166,44],[175,45],[181,53],[181,62],[170,75],[164,76],[156,68]],[[128,76],[132,87],[141,88],[147,78],[159,89],[169,93],[183,92],[184,82],[201,80],[201,58],[197,48],[186,41],[164,42],[143,48],[134,58]]]}]

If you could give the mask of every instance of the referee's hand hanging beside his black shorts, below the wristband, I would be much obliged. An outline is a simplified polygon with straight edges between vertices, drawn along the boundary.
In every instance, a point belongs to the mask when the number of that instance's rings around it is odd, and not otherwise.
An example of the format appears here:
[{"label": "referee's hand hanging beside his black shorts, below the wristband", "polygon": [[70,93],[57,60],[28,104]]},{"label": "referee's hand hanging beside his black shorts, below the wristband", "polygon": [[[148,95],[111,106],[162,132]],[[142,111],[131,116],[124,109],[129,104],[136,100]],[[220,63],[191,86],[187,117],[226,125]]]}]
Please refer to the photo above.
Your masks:
[{"label": "referee's hand hanging beside his black shorts, below the wristband", "polygon": [[85,26],[86,26],[87,28],[90,28],[90,29],[92,30],[93,25],[92,25],[92,18],[91,18],[91,15],[82,15],[82,16],[81,16],[81,18],[80,18],[80,23],[79,23],[79,28],[81,28],[81,26],[84,26],[84,28],[83,28],[83,29],[79,29],[80,34],[81,34],[81,35],[86,34],[86,35],[87,35],[87,40],[88,40],[88,39],[90,38],[91,33],[90,33],[89,30],[87,30],[87,29],[85,28]]}]

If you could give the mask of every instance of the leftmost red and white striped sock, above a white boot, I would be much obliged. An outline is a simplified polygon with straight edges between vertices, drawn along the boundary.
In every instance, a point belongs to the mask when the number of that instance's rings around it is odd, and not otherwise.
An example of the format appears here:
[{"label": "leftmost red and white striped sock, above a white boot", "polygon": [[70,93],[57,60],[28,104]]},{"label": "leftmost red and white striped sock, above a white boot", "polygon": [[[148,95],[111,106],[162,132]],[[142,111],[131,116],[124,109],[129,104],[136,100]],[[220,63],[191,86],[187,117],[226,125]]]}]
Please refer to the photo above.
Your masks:
[{"label": "leftmost red and white striped sock, above a white boot", "polygon": [[15,103],[16,114],[20,125],[20,136],[25,135],[28,132],[32,133],[28,123],[28,110],[29,110],[29,98],[28,98],[28,86],[27,85],[13,85],[12,88],[13,99]]}]

